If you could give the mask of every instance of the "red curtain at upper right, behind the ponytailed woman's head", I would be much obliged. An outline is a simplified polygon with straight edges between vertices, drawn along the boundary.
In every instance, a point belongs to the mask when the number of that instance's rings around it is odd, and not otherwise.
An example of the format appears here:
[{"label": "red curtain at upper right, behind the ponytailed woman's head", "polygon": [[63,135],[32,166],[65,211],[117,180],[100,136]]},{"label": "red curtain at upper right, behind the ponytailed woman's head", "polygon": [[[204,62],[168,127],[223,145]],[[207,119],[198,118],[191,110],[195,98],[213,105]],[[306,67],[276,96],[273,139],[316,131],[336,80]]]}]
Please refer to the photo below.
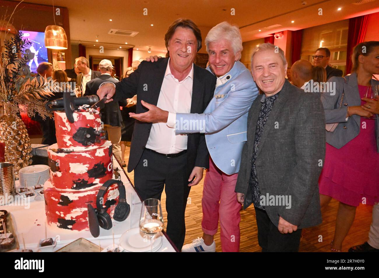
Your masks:
[{"label": "red curtain at upper right, behind the ponytailed woman's head", "polygon": [[357,16],[349,19],[348,46],[346,53],[346,70],[345,75],[349,74],[352,67],[351,55],[353,48],[363,42],[367,30],[368,15]]}]

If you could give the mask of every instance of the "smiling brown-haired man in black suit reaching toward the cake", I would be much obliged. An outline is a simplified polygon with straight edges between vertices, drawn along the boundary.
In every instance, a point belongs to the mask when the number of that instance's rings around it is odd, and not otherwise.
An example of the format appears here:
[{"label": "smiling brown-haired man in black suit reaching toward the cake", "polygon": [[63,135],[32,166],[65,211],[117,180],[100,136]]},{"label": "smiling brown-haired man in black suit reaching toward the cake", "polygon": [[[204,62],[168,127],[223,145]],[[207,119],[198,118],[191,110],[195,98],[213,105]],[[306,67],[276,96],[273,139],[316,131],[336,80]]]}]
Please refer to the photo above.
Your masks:
[{"label": "smiling brown-haired man in black suit reaching toward the cake", "polygon": [[[97,95],[108,100],[114,95],[114,101],[137,95],[136,113],[147,111],[143,101],[171,109],[164,109],[167,111],[203,113],[213,97],[216,77],[193,63],[201,40],[194,22],[176,20],[165,35],[169,58],[142,62],[116,85],[104,84]],[[135,188],[142,200],[160,199],[165,186],[166,231],[179,250],[185,238],[189,186],[199,183],[208,166],[204,134],[175,135],[175,129],[166,123],[136,121],[128,171],[134,169]]]}]

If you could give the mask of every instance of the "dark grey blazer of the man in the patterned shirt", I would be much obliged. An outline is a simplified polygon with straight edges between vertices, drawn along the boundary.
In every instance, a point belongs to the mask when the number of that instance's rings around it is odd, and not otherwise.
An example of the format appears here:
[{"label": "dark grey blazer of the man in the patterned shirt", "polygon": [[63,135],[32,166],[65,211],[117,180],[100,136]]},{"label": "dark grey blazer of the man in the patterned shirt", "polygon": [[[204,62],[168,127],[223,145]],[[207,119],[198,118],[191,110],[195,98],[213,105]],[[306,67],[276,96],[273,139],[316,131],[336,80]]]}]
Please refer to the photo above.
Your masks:
[{"label": "dark grey blazer of the man in the patterned shirt", "polygon": [[[243,147],[235,191],[245,194],[244,209],[252,203],[249,186],[259,95],[249,110],[247,143]],[[279,216],[299,228],[322,222],[318,177],[325,157],[325,120],[320,99],[285,81],[266,121],[258,146],[258,183],[262,196],[291,196],[291,208],[266,205],[274,225]],[[289,197],[288,197],[289,198]]]}]

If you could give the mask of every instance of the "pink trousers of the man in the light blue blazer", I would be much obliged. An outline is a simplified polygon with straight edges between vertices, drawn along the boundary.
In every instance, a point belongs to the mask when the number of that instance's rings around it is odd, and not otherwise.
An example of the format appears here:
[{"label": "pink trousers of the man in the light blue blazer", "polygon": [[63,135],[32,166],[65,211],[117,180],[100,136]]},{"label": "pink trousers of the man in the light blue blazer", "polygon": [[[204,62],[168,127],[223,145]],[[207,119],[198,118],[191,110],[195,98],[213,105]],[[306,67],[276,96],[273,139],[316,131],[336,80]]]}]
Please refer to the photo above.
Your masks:
[{"label": "pink trousers of the man in the light blue blazer", "polygon": [[205,174],[203,197],[203,219],[201,227],[207,235],[215,235],[218,222],[221,227],[222,252],[238,252],[240,250],[240,210],[234,192],[237,174],[227,175],[217,168],[209,159],[209,171]]}]

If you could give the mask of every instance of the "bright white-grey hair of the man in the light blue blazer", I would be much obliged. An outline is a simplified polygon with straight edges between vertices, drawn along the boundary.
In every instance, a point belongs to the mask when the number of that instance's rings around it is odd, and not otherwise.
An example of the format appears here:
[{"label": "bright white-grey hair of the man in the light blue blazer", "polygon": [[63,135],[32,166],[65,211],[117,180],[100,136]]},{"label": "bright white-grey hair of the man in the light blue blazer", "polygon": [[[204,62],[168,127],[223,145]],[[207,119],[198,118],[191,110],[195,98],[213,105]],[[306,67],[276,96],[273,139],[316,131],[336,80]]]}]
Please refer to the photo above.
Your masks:
[{"label": "bright white-grey hair of the man in the light blue blazer", "polygon": [[[218,40],[225,39],[232,43],[233,53],[236,54],[238,51],[242,51],[242,37],[240,29],[236,24],[231,25],[230,23],[224,21],[218,23],[213,27],[207,34],[205,38],[205,45],[207,47],[207,52],[209,50],[210,42],[217,42]],[[238,60],[241,59],[241,53],[238,56]]]}]

